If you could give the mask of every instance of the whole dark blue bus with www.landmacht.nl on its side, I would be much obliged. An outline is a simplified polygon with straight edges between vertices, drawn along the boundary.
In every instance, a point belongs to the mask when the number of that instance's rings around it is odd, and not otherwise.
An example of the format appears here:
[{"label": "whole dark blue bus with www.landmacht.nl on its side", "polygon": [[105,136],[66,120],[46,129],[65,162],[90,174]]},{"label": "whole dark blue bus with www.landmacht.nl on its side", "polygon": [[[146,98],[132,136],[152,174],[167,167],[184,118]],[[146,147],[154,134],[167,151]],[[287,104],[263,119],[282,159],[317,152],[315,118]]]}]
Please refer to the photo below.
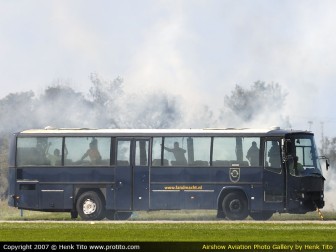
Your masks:
[{"label": "whole dark blue bus with www.landmacht.nl on its side", "polygon": [[269,219],[324,206],[314,135],[272,129],[52,129],[14,134],[9,205],[84,220],[216,209]]}]

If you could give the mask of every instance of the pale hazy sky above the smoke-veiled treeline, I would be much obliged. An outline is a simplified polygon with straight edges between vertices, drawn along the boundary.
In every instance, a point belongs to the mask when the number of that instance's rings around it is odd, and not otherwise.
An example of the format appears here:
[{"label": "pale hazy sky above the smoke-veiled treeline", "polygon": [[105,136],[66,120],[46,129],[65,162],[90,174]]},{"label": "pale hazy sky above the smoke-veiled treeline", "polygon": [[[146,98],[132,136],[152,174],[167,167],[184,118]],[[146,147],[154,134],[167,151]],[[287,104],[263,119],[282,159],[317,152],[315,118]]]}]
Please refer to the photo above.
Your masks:
[{"label": "pale hazy sky above the smoke-veiled treeline", "polygon": [[0,98],[57,80],[87,92],[95,72],[218,108],[261,80],[288,93],[293,128],[336,136],[335,12],[334,0],[0,0]]}]

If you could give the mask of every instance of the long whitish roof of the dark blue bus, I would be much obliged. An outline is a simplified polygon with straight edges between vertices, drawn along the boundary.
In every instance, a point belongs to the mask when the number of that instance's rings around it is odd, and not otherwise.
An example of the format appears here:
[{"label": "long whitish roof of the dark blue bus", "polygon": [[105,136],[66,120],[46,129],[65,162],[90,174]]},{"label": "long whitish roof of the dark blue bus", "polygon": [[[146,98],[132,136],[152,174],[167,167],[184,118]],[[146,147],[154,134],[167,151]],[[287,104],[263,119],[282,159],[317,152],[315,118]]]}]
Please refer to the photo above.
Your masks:
[{"label": "long whitish roof of the dark blue bus", "polygon": [[51,128],[29,129],[18,135],[111,135],[111,136],[198,136],[198,135],[258,135],[258,136],[283,136],[291,133],[308,133],[303,130],[285,130],[279,127],[269,129],[236,129],[236,128],[206,128],[206,129],[88,129],[88,128]]}]

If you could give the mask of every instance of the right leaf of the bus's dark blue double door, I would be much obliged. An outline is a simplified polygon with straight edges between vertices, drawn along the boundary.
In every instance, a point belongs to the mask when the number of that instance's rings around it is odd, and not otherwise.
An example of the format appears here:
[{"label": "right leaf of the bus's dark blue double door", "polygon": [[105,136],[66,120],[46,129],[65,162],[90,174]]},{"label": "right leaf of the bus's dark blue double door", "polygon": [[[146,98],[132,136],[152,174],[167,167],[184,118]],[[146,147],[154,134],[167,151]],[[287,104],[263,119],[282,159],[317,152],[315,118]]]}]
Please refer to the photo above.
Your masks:
[{"label": "right leaf of the bus's dark blue double door", "polygon": [[149,140],[135,139],[133,166],[133,209],[149,209]]}]

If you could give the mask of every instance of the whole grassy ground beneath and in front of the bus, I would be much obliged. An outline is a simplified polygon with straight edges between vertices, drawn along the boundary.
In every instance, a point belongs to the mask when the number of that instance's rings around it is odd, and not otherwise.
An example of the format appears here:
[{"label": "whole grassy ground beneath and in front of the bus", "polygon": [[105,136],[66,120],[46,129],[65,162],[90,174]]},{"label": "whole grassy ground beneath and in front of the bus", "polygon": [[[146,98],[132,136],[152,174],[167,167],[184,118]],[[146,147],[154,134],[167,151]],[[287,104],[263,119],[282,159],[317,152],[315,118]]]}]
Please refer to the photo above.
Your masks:
[{"label": "whole grassy ground beneath and in front of the bus", "polygon": [[[0,241],[330,242],[336,240],[336,224],[334,221],[328,223],[328,220],[336,220],[334,212],[325,212],[325,221],[321,221],[316,212],[306,215],[275,214],[271,221],[266,222],[231,222],[217,220],[215,211],[161,211],[136,212],[126,222],[82,222],[80,219],[71,221],[68,213],[24,211],[21,217],[20,210],[10,208],[4,202],[0,204],[0,209],[0,220],[4,220],[0,222]],[[156,222],[157,220],[165,222]],[[194,220],[201,221],[190,222]],[[285,220],[291,221],[285,222]],[[312,222],[301,223],[300,220],[312,220]]]}]

